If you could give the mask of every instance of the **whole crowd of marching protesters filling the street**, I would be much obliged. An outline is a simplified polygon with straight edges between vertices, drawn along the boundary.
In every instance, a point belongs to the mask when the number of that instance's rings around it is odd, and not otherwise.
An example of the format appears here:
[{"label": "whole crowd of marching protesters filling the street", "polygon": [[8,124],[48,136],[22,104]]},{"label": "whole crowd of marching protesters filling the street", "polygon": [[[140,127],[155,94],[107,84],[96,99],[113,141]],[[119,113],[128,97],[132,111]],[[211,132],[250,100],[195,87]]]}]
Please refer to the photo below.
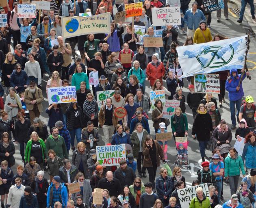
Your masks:
[{"label": "whole crowd of marching protesters filling the street", "polygon": [[[125,4],[134,3],[133,0],[47,1],[50,10],[40,11],[35,19],[18,18],[17,4],[21,1],[9,0],[0,10],[8,16],[8,25],[0,27],[2,208],[184,208],[178,196],[178,190],[186,187],[180,165],[188,166],[189,154],[193,153],[188,152],[187,145],[177,145],[178,165],[171,171],[167,164],[167,140],[156,141],[154,133],[170,132],[171,128],[174,140],[187,137],[186,102],[194,119],[191,134],[199,143],[202,157],[202,169],[197,171],[192,186],[207,184],[209,190],[206,196],[198,186],[189,208],[254,207],[256,104],[243,91],[243,80],[249,76],[246,67],[216,72],[220,77],[219,104],[212,93],[195,92],[193,77],[187,77],[189,93],[185,98],[182,89],[187,86],[176,72],[181,68],[176,51],[182,46],[178,35],[187,35],[184,45],[228,38],[218,33],[212,37],[211,12],[204,13],[202,0],[193,2],[191,8],[190,0],[145,0],[142,15],[135,16],[134,21],[133,17],[126,18],[125,24],[114,21],[114,8],[125,11]],[[255,19],[254,4],[248,2]],[[246,3],[242,0],[239,23]],[[227,0],[223,4],[228,20]],[[151,9],[168,6],[180,7],[181,34],[177,25],[152,26]],[[111,15],[111,33],[62,37],[61,17],[106,12]],[[218,10],[217,22],[220,21]],[[145,26],[140,44],[136,44],[139,38],[133,25]],[[159,29],[163,30],[163,47],[144,47],[144,38],[156,37],[154,30]],[[76,53],[76,44],[80,55]],[[122,64],[121,54],[130,54],[130,63]],[[97,86],[89,85],[90,72],[98,72]],[[50,78],[45,89],[42,82],[43,77],[48,78],[46,74]],[[146,83],[154,91],[164,90],[168,100],[180,101],[169,119],[163,118],[161,100],[150,102]],[[43,109],[48,88],[67,86],[76,87],[77,102],[52,103]],[[97,92],[111,89],[113,96],[99,108]],[[230,127],[225,121],[228,118],[223,118],[218,110],[225,102],[230,104]],[[117,107],[126,109],[123,119],[115,115]],[[47,124],[40,119],[43,111],[48,114]],[[155,130],[151,134],[149,119]],[[99,128],[103,130],[102,136]],[[235,139],[244,139],[242,155],[230,145],[231,129],[236,129]],[[120,160],[119,166],[100,165],[96,156],[100,141],[104,145],[125,144],[126,160]],[[15,143],[20,145],[22,158],[16,169]],[[212,157],[206,157],[206,149],[213,152]],[[161,162],[164,167],[157,173]],[[141,178],[147,177],[148,182],[143,183]],[[229,184],[231,196],[224,204],[223,182]],[[79,185],[80,191],[69,192],[73,183]],[[95,188],[103,189],[102,200],[101,196],[97,200],[102,203],[95,204],[93,200]]]}]

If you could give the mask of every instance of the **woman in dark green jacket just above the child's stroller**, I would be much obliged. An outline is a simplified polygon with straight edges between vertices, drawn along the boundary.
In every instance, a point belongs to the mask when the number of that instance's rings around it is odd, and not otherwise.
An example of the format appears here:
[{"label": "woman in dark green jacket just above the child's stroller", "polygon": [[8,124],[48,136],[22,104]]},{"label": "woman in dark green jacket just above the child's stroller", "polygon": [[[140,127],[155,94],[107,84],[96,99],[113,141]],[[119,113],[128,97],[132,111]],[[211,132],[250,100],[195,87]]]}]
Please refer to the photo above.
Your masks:
[{"label": "woman in dark green jacket just above the child's stroller", "polygon": [[174,141],[175,137],[188,136],[188,119],[180,107],[175,108],[174,115],[171,116],[171,129]]}]

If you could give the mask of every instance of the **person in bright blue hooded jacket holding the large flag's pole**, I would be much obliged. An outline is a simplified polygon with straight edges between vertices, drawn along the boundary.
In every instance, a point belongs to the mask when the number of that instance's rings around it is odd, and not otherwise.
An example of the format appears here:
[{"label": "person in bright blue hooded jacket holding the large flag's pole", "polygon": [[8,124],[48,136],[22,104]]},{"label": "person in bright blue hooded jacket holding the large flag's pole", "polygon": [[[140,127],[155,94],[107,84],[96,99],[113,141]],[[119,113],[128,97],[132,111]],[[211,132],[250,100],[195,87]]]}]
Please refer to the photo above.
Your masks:
[{"label": "person in bright blue hooded jacket holding the large flag's pole", "polygon": [[[242,69],[241,72],[243,73],[245,69]],[[240,86],[239,81],[240,79],[244,80],[246,77],[246,73],[243,74],[243,77],[241,77],[242,74],[237,73],[237,69],[230,69],[230,76],[226,80],[226,91],[228,91],[228,98],[230,101],[230,113],[231,113],[231,121],[232,121],[232,127],[231,129],[236,128],[236,116],[238,117],[243,97],[243,84],[241,81]],[[235,116],[235,104],[236,104],[236,116]]]}]

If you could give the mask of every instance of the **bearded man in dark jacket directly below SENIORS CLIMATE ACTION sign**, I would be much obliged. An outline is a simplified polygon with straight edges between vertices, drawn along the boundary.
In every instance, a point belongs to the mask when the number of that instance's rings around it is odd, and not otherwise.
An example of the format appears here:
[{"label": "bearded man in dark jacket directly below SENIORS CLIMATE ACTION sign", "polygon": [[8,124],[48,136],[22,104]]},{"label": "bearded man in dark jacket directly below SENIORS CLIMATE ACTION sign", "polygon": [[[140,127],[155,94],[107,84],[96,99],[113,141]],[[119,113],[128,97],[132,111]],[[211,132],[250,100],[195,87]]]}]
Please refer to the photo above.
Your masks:
[{"label": "bearded man in dark jacket directly below SENIORS CLIMATE ACTION sign", "polygon": [[128,167],[124,159],[119,161],[120,167],[115,171],[114,178],[118,179],[121,187],[133,184],[136,175],[131,167]]}]

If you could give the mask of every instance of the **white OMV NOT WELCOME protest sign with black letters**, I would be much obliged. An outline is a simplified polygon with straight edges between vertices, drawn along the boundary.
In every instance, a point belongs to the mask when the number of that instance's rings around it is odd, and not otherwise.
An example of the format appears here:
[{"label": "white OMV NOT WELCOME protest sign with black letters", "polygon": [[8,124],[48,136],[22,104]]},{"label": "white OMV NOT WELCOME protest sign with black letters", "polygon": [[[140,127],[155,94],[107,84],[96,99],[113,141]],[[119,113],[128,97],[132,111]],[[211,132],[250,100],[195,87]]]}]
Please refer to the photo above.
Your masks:
[{"label": "white OMV NOT WELCOME protest sign with black letters", "polygon": [[196,196],[196,191],[195,190],[198,187],[202,187],[204,195],[206,197],[210,196],[207,184],[200,184],[200,185],[197,185],[197,186],[191,186],[191,187],[187,187],[187,188],[184,188],[184,189],[178,189],[177,192],[178,192],[178,197],[180,199],[181,208],[188,208],[189,207],[189,204],[190,204],[191,200],[193,199],[193,197]]}]

